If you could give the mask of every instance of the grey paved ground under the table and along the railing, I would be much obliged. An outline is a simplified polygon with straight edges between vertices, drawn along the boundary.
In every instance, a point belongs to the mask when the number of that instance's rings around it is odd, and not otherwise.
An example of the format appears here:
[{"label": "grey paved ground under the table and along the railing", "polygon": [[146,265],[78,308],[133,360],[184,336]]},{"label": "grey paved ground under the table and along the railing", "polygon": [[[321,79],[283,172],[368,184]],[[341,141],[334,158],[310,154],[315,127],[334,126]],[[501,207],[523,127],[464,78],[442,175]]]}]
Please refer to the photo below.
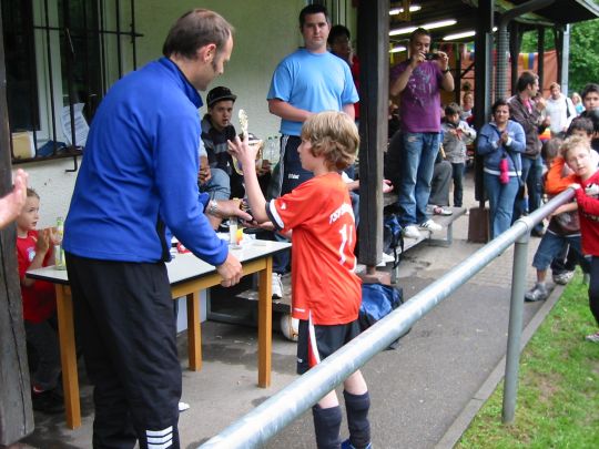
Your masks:
[{"label": "grey paved ground under the table and along the railing", "polygon": [[[473,196],[468,188],[466,197]],[[475,204],[473,201],[466,205]],[[456,221],[449,248],[419,245],[408,253],[399,272],[399,284],[407,297],[481,247],[466,241],[467,226],[468,216]],[[530,259],[537,244],[538,239],[531,239]],[[485,384],[506,351],[511,262],[511,251],[497,257],[424,317],[396,350],[377,355],[364,368],[373,400],[370,419],[376,448],[453,446],[476,410],[473,400],[484,400],[481,386],[491,390],[501,374],[496,370]],[[528,278],[530,286],[531,269]],[[525,305],[525,327],[539,309],[549,308],[549,304],[541,306]],[[182,400],[191,404],[180,420],[185,448],[197,447],[296,378],[295,345],[280,334],[273,341],[273,385],[260,389],[254,328],[210,322],[202,326],[202,333],[203,369],[184,371],[183,376]],[[184,355],[184,337],[181,341],[180,354]],[[184,358],[182,366],[186,367]],[[83,388],[82,411],[83,426],[73,431],[64,428],[61,417],[37,414],[37,430],[23,442],[38,448],[91,447],[93,409],[89,387]],[[312,417],[305,414],[266,447],[312,448]],[[347,435],[345,428],[342,435]]]}]

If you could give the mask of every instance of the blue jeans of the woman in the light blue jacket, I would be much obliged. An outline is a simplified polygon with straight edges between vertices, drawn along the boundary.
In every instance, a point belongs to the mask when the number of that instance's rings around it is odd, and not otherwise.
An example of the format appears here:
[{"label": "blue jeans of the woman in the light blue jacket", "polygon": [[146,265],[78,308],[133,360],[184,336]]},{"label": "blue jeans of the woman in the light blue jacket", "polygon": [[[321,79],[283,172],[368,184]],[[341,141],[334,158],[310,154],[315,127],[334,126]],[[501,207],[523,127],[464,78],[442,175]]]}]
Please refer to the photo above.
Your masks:
[{"label": "blue jeans of the woman in the light blue jacket", "polygon": [[511,226],[514,202],[518,194],[518,178],[511,176],[509,183],[501,184],[499,176],[484,173],[485,191],[489,198],[489,229],[491,238],[497,237]]}]

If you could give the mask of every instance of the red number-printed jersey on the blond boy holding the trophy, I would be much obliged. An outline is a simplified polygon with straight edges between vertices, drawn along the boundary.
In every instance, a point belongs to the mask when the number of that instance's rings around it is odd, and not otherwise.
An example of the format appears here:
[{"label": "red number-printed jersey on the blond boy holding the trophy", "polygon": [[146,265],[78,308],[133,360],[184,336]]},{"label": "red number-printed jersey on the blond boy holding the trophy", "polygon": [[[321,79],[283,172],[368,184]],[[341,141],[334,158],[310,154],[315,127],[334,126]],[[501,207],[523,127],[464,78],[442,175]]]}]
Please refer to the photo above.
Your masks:
[{"label": "red number-printed jersey on the blond boy holding the trophy", "polygon": [[347,186],[337,173],[306,181],[267,205],[281,229],[293,229],[292,315],[316,325],[357,319],[356,228]]}]

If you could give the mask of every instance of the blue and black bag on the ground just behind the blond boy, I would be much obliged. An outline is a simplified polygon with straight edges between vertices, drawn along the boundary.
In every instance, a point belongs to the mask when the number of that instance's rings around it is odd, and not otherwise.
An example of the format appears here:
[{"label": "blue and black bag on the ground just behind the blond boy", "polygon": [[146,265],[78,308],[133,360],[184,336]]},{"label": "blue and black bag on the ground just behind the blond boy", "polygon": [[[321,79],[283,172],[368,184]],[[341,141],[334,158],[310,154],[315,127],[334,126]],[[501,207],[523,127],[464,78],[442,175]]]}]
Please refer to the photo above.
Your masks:
[{"label": "blue and black bag on the ground just behind the blond boy", "polygon": [[[402,304],[404,304],[404,290],[402,288],[378,283],[362,284],[362,305],[358,313],[359,328],[363,331],[366,330]],[[399,338],[409,330],[406,330]],[[388,348],[395,349],[399,344],[399,338],[392,343]]]}]

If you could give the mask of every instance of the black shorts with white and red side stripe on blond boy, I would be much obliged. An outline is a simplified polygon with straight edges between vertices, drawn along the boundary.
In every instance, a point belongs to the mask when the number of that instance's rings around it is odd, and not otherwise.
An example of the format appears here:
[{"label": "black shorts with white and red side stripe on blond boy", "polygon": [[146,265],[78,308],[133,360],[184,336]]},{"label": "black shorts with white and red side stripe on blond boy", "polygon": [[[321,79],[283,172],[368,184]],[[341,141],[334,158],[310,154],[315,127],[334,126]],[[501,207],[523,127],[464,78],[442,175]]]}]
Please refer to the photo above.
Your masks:
[{"label": "black shorts with white and red side stripe on blond boy", "polygon": [[[314,333],[311,333],[311,327]],[[297,336],[297,374],[303,375],[359,335],[357,319],[344,325],[313,325],[301,319]],[[311,338],[311,335],[314,337]]]}]

